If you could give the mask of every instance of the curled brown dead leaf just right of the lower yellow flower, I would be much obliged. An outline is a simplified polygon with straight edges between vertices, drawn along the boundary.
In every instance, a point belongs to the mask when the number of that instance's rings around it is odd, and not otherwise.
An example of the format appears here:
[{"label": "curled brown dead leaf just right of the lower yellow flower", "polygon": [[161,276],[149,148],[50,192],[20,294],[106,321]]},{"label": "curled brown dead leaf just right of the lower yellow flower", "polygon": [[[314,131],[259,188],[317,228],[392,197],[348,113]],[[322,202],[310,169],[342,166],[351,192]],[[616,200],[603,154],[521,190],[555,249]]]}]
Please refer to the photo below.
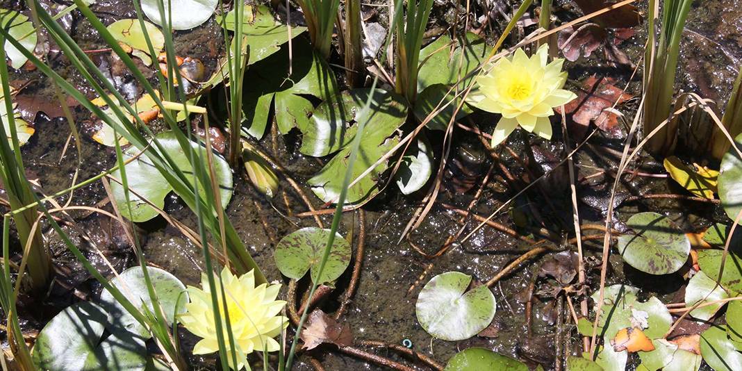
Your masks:
[{"label": "curled brown dead leaf just right of the lower yellow flower", "polygon": [[338,324],[335,318],[315,309],[309,315],[309,321],[299,335],[304,342],[303,349],[314,349],[322,343],[335,344],[338,347],[349,347],[353,343],[353,334],[348,324]]}]

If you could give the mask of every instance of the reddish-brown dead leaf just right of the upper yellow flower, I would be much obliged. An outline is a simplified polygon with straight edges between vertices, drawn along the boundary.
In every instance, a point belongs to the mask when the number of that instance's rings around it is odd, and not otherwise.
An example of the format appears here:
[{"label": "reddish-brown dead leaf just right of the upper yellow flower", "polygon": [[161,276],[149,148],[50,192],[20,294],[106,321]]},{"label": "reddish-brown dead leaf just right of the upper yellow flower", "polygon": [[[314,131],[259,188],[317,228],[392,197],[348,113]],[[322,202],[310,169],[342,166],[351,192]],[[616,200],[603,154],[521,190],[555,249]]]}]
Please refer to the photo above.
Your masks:
[{"label": "reddish-brown dead leaf just right of the upper yellow flower", "polygon": [[[571,121],[577,124],[572,125],[577,139],[584,136],[591,121],[609,134],[619,133],[617,113],[606,108],[613,107],[614,103],[620,105],[634,96],[617,88],[614,82],[610,77],[590,76],[577,91],[577,99],[564,106],[565,114],[571,115]],[[556,111],[560,113],[561,108]]]}]

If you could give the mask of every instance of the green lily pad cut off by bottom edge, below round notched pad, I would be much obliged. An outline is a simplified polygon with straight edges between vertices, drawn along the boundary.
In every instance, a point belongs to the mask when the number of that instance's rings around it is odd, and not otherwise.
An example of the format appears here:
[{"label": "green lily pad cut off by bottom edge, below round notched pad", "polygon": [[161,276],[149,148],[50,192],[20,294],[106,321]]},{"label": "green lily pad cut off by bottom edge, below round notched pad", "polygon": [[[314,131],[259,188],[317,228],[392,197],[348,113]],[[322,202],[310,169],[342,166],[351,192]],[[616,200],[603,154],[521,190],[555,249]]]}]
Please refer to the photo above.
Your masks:
[{"label": "green lily pad cut off by bottom edge, below round notched pad", "polygon": [[456,353],[444,371],[528,371],[528,366],[517,359],[497,354],[490,349],[469,348]]}]

